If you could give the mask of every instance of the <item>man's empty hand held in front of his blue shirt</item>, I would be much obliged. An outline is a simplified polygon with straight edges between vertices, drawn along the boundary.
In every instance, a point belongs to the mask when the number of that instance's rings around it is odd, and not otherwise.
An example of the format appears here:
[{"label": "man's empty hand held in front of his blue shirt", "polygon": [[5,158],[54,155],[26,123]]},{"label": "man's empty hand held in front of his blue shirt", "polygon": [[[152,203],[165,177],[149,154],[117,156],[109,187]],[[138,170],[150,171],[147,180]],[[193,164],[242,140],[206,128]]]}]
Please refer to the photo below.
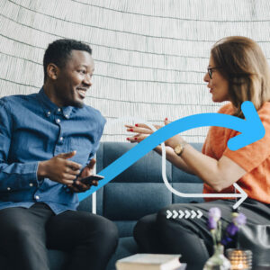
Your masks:
[{"label": "man's empty hand held in front of his blue shirt", "polygon": [[61,184],[73,184],[76,176],[80,173],[81,165],[67,159],[75,155],[76,151],[72,151],[59,154],[49,160],[40,161],[38,177],[48,177],[50,180]]}]

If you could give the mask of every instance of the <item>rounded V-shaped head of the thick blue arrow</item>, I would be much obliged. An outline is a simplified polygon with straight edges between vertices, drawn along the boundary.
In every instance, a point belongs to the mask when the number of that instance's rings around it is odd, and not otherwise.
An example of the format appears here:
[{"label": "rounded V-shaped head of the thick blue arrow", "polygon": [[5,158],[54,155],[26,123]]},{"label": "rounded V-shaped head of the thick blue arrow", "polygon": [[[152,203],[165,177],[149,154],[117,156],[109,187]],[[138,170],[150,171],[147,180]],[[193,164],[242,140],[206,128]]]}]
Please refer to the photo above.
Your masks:
[{"label": "rounded V-shaped head of the thick blue arrow", "polygon": [[254,104],[246,101],[242,103],[241,109],[246,121],[242,121],[239,125],[241,134],[228,141],[228,147],[233,151],[244,148],[259,139],[263,139],[266,135],[265,127],[257,114]]}]

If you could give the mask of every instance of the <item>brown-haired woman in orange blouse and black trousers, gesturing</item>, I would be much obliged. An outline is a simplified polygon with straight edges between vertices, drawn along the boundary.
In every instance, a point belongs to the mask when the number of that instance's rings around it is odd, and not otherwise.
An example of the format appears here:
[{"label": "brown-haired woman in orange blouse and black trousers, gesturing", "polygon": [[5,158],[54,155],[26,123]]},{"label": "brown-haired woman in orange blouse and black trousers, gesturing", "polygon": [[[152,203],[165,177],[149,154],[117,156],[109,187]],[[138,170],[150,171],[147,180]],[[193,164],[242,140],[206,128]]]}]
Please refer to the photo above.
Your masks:
[{"label": "brown-haired woman in orange blouse and black trousers, gesturing", "polygon": [[[204,81],[210,89],[212,101],[229,102],[220,113],[244,118],[241,103],[254,103],[266,129],[266,136],[257,142],[231,151],[230,138],[238,131],[211,127],[202,153],[176,135],[165,141],[166,158],[184,171],[198,175],[203,181],[203,193],[234,193],[232,184],[238,183],[247,193],[241,212],[247,222],[269,224],[270,220],[270,71],[262,50],[254,40],[228,37],[211,49],[208,72]],[[167,124],[168,121],[165,121]],[[128,125],[136,132],[128,138],[138,142],[152,133],[146,125]],[[156,148],[161,152],[160,147]],[[202,269],[211,256],[211,233],[207,229],[207,212],[215,206],[222,211],[224,226],[230,221],[235,200],[208,199],[198,204],[173,204],[157,214],[148,215],[137,223],[134,237],[141,251],[182,254],[181,261],[188,269]],[[200,210],[201,219],[166,219],[166,210]]]}]

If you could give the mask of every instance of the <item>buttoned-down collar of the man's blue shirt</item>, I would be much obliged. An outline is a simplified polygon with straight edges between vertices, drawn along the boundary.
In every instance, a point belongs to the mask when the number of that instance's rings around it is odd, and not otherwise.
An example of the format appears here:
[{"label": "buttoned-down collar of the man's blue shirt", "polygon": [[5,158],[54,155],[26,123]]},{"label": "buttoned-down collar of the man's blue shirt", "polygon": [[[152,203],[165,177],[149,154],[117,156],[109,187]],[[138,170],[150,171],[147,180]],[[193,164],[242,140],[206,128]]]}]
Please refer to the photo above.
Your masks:
[{"label": "buttoned-down collar of the man's blue shirt", "polygon": [[40,103],[44,109],[46,116],[49,117],[51,114],[63,114],[63,116],[65,118],[69,118],[73,107],[67,106],[67,107],[59,108],[55,103],[52,103],[50,101],[48,95],[45,94],[43,87],[40,89],[40,92],[38,94],[38,98],[39,98]]}]

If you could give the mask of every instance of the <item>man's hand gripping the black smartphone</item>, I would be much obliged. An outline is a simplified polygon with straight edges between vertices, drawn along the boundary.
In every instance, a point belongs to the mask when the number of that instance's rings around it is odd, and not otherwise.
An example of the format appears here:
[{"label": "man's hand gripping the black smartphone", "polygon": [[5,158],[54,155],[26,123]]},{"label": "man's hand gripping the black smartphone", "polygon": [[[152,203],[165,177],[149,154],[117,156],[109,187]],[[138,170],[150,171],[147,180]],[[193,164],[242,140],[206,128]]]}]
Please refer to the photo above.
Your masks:
[{"label": "man's hand gripping the black smartphone", "polygon": [[82,178],[88,177],[90,175],[93,175],[93,169],[94,169],[94,165],[95,165],[95,159],[92,158],[90,163],[85,166],[85,168],[82,170],[81,175],[79,175],[79,177],[76,179],[76,181],[74,182],[74,184],[67,184],[67,186],[76,193],[82,193],[85,192],[86,190],[88,190],[92,185],[97,185],[98,182],[97,181],[93,181],[92,184],[84,184],[82,183],[80,180]]}]

